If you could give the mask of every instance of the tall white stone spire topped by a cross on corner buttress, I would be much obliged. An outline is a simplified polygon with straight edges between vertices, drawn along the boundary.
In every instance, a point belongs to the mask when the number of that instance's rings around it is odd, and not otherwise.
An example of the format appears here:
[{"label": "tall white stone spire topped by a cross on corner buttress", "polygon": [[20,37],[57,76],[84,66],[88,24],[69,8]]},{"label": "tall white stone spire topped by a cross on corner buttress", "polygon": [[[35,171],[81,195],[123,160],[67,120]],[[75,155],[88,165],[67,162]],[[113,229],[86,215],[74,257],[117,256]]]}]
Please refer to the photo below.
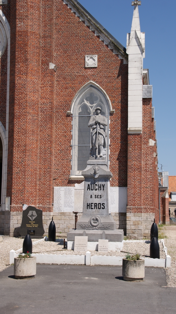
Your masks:
[{"label": "tall white stone spire topped by a cross on corner buttress", "polygon": [[145,33],[141,33],[138,5],[134,6],[131,33],[127,34],[128,54],[128,133],[142,133],[142,71]]}]

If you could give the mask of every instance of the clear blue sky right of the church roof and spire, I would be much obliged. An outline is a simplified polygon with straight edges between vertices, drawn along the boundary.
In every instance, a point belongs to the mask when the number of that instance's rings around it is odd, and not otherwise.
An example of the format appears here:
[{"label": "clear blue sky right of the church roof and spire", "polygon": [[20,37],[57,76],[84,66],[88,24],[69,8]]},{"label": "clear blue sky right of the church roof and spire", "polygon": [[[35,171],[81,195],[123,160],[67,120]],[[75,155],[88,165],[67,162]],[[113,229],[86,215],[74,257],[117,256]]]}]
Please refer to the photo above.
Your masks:
[{"label": "clear blue sky right of the church roof and spire", "polygon": [[[131,31],[134,7],[130,0],[79,0],[124,47]],[[176,1],[142,0],[141,32],[145,32],[143,68],[149,69],[153,85],[158,140],[158,171],[176,176]]]}]

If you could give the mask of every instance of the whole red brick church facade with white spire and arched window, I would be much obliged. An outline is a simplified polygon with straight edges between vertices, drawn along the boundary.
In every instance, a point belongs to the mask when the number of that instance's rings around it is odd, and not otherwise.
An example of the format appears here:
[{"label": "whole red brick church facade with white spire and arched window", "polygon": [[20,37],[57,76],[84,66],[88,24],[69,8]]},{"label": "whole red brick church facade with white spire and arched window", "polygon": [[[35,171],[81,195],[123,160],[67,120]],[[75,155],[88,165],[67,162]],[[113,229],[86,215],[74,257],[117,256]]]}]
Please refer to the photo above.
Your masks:
[{"label": "whole red brick church facade with white spire and arched window", "polygon": [[46,233],[52,216],[56,233],[75,228],[73,211],[82,213],[72,193],[84,181],[98,106],[111,215],[129,238],[148,238],[159,221],[158,156],[141,1],[132,2],[127,48],[76,0],[1,3],[1,234],[19,236],[23,204],[43,210]]}]

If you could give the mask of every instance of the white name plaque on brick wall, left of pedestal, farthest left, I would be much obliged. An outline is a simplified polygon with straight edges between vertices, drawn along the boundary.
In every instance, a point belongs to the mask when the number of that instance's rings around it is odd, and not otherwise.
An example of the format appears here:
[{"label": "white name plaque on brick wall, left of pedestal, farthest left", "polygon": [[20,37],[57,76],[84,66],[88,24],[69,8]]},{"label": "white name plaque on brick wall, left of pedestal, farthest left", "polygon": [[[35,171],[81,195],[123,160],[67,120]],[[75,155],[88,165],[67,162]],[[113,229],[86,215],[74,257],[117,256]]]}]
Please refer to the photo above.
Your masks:
[{"label": "white name plaque on brick wall, left of pedestal, farthest left", "polygon": [[74,187],[54,187],[54,212],[74,211]]}]

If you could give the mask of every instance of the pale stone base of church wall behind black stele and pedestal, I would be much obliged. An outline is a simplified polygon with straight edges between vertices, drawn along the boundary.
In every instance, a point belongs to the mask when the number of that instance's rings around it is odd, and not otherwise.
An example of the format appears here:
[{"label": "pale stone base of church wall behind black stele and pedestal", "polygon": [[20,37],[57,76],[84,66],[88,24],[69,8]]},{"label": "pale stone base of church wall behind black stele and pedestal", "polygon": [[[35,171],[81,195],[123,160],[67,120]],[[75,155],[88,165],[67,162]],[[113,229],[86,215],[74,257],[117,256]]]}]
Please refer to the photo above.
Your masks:
[{"label": "pale stone base of church wall behind black stele and pedestal", "polygon": [[[19,228],[22,222],[22,211],[0,211],[0,234],[4,236],[20,236]],[[116,221],[116,229],[123,229],[126,235],[126,213],[111,213]],[[44,234],[48,234],[49,224],[53,220],[56,226],[56,234],[67,233],[75,229],[75,215],[73,213],[57,213],[43,211]],[[78,220],[82,213],[78,213]]]}]

